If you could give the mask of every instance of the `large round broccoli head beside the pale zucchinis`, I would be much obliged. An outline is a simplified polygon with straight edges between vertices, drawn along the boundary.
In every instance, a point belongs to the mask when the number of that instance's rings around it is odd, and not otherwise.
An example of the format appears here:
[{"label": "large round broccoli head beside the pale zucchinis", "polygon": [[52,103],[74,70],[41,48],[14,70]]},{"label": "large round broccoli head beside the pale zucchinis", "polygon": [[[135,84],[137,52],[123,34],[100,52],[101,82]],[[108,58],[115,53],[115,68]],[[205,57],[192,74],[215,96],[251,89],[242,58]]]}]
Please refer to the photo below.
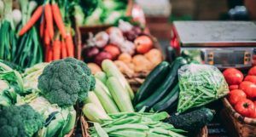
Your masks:
[{"label": "large round broccoli head beside the pale zucchinis", "polygon": [[55,60],[38,77],[38,88],[51,104],[73,106],[83,101],[87,92],[95,86],[90,68],[73,58]]}]

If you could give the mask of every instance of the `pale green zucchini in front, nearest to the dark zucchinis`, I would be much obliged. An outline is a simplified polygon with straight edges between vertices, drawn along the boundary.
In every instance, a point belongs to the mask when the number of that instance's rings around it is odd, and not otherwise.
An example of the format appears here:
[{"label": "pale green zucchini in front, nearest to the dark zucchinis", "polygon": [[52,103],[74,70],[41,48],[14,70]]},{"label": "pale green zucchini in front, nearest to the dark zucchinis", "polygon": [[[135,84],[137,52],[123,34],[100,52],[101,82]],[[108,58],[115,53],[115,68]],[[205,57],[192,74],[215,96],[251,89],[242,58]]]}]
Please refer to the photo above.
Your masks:
[{"label": "pale green zucchini in front, nearest to the dark zucchinis", "polygon": [[121,83],[119,83],[119,80],[116,77],[108,78],[107,87],[121,112],[134,111],[129,94],[125,94],[125,88],[122,87]]}]

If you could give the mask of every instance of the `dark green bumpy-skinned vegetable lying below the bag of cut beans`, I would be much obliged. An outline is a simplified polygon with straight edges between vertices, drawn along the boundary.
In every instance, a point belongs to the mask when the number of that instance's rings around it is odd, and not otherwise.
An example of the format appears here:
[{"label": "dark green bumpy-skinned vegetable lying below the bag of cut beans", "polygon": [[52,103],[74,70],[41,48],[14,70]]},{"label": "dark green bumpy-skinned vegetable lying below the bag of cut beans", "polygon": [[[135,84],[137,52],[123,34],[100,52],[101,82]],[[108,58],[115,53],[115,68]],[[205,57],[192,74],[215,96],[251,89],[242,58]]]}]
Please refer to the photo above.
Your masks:
[{"label": "dark green bumpy-skinned vegetable lying below the bag of cut beans", "polygon": [[171,123],[175,128],[180,128],[189,132],[197,132],[210,123],[213,119],[212,110],[201,108],[199,110],[190,111],[185,114],[169,117],[166,123]]}]

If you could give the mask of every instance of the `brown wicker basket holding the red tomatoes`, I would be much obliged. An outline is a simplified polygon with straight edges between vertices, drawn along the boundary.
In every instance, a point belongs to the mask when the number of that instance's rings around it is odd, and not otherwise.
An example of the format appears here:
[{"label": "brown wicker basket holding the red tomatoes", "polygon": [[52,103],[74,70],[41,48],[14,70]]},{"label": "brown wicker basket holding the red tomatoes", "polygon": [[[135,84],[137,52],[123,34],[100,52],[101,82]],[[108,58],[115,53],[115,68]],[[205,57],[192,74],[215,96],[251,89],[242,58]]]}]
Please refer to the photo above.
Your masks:
[{"label": "brown wicker basket holding the red tomatoes", "polygon": [[226,98],[222,101],[224,109],[221,111],[221,118],[230,135],[232,137],[255,137],[256,119],[242,117],[234,110]]}]

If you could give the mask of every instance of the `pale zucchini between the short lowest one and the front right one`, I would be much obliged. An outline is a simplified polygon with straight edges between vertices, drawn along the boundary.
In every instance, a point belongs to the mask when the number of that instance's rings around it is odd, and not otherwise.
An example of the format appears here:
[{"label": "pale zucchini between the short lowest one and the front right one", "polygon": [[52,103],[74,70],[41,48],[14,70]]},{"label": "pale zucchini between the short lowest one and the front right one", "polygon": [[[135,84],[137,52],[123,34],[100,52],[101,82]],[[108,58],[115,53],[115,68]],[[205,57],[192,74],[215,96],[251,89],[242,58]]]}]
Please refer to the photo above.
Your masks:
[{"label": "pale zucchini between the short lowest one and the front right one", "polygon": [[100,100],[103,108],[107,113],[117,113],[119,112],[119,108],[113,101],[112,96],[109,94],[108,88],[97,78],[96,85],[93,92],[96,94],[98,99]]}]

